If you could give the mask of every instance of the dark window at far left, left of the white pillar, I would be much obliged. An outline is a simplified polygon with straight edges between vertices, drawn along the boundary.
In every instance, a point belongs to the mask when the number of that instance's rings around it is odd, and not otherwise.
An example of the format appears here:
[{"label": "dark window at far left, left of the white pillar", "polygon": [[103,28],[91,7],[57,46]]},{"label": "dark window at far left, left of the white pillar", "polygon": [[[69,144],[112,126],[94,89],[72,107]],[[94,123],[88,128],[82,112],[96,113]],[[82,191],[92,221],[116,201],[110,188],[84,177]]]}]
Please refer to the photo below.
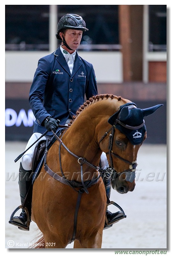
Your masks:
[{"label": "dark window at far left, left of the white pillar", "polygon": [[49,5],[5,5],[5,49],[49,49]]}]

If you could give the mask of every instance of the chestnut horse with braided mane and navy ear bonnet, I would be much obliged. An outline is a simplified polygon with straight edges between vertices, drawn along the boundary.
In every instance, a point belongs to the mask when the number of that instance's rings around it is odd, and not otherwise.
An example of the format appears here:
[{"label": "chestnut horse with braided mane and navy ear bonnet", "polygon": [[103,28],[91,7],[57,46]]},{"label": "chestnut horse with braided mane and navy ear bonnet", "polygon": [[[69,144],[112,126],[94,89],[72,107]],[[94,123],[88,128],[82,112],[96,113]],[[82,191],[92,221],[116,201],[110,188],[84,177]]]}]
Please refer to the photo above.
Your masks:
[{"label": "chestnut horse with braided mane and navy ear bonnet", "polygon": [[[66,248],[73,241],[74,248],[101,248],[107,207],[103,177],[107,174],[121,194],[134,190],[137,154],[147,137],[143,117],[160,106],[139,109],[120,96],[99,94],[78,109],[48,149],[33,183],[31,216],[42,233],[35,248]],[[141,117],[129,123],[132,111]],[[110,166],[104,172],[102,152]]]}]

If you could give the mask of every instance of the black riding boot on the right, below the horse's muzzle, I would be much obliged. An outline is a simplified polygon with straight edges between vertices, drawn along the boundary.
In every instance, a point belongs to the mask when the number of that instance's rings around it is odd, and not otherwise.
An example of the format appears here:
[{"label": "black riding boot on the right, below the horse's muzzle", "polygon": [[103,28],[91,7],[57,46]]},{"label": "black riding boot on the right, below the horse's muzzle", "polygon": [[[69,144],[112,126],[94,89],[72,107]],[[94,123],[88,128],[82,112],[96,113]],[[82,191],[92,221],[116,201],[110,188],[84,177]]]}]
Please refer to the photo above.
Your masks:
[{"label": "black riding boot on the right, below the horse's muzzle", "polygon": [[[105,179],[104,178],[103,181],[104,181],[106,194],[110,198],[110,195],[111,195],[111,179]],[[109,210],[106,210],[106,217],[107,217],[108,223],[111,223],[111,222],[117,220],[118,218],[122,217],[123,215],[124,215],[124,213],[121,212],[121,211],[112,213]],[[116,221],[116,222],[118,222],[118,221]],[[105,221],[104,229],[107,229],[107,228],[110,228],[110,227],[112,227],[112,225],[107,225],[107,223]]]}]

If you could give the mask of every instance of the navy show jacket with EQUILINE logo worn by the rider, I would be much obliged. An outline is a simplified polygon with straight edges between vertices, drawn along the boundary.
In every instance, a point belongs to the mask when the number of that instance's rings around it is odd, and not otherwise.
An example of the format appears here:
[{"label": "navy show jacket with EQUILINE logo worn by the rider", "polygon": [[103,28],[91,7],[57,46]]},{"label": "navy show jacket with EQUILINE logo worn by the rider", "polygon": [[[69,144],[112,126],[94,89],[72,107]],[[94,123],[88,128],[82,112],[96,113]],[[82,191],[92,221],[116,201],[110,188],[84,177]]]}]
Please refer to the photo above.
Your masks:
[{"label": "navy show jacket with EQUILINE logo worn by the rider", "polygon": [[[93,65],[76,52],[72,74],[60,47],[38,61],[29,93],[29,103],[36,118],[33,132],[44,133],[44,119],[51,116],[65,124],[76,114],[84,97],[97,95]],[[48,132],[47,135],[52,134]]]}]

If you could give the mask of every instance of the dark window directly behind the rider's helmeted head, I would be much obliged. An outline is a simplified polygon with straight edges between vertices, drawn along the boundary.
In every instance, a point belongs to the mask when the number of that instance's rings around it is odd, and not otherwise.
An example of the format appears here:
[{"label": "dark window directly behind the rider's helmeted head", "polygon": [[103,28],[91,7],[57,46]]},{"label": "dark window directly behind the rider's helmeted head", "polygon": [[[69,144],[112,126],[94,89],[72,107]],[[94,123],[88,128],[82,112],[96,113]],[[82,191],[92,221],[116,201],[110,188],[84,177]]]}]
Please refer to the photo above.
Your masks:
[{"label": "dark window directly behind the rider's helmeted head", "polygon": [[118,5],[58,5],[58,17],[81,15],[86,23],[80,50],[119,50]]}]

